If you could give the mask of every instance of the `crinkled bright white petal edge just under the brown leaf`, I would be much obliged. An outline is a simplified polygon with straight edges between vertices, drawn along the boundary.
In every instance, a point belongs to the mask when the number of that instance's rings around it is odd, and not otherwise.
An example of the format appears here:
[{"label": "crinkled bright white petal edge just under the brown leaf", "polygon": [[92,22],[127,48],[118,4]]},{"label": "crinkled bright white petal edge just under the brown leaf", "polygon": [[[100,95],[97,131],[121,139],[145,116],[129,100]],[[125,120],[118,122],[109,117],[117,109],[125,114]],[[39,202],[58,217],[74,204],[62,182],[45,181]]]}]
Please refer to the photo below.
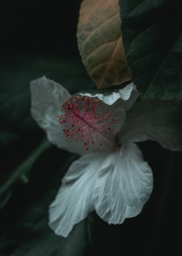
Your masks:
[{"label": "crinkled bright white petal edge just under the brown leaf", "polygon": [[138,98],[139,94],[136,91],[135,84],[131,83],[125,86],[123,89],[115,89],[112,93],[104,94],[104,93],[81,93],[81,95],[87,95],[89,97],[97,97],[101,101],[103,101],[105,104],[112,105],[118,99],[120,99],[120,104],[125,108],[125,110],[128,110],[131,108],[133,103],[135,103],[136,99]]}]

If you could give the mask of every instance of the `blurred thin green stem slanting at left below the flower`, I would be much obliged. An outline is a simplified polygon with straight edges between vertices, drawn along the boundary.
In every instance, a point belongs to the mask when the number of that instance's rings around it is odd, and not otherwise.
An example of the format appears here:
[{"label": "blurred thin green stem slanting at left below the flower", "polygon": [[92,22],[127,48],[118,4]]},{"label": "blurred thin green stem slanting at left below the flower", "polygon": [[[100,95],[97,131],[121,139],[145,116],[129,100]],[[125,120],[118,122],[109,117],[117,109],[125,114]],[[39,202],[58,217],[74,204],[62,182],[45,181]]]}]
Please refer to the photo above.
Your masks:
[{"label": "blurred thin green stem slanting at left below the flower", "polygon": [[27,159],[25,159],[25,161],[23,161],[23,163],[20,163],[18,167],[8,173],[8,176],[5,176],[5,178],[1,179],[0,195],[3,202],[0,204],[0,208],[2,208],[5,205],[5,202],[7,202],[10,198],[9,193],[11,186],[12,184],[14,184],[14,182],[21,180],[23,183],[27,183],[29,181],[28,176],[32,166],[34,165],[38,157],[40,157],[40,155],[45,150],[47,150],[49,146],[51,146],[51,144],[48,142],[47,139],[42,140],[42,142],[36,147],[33,152],[31,152],[31,154],[27,157]]}]

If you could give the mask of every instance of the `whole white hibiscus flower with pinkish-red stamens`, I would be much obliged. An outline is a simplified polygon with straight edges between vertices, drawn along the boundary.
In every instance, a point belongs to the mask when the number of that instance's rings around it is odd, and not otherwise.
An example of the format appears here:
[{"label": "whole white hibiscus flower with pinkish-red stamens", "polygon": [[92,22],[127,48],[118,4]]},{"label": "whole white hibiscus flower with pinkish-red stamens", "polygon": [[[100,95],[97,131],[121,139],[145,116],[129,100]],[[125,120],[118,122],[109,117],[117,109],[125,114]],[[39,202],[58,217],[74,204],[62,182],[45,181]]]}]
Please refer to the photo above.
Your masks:
[{"label": "whole white hibiscus flower with pinkish-red stamens", "polygon": [[31,95],[32,116],[49,141],[81,155],[49,208],[51,229],[66,237],[93,210],[113,224],[138,215],[153,176],[135,142],[181,150],[181,101],[136,101],[133,84],[107,96],[71,96],[45,77],[31,82]]}]

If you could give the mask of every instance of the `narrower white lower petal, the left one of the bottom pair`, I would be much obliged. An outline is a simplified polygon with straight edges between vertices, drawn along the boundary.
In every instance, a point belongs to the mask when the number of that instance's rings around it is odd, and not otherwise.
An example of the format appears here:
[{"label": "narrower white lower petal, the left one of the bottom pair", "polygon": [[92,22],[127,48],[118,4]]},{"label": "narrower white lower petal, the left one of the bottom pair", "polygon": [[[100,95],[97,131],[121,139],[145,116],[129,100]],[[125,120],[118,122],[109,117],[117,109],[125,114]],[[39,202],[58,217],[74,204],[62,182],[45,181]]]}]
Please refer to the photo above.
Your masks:
[{"label": "narrower white lower petal, the left one of the bottom pair", "polygon": [[49,208],[49,226],[60,236],[68,236],[73,225],[94,210],[93,191],[101,165],[99,153],[82,156],[70,166],[56,199]]}]

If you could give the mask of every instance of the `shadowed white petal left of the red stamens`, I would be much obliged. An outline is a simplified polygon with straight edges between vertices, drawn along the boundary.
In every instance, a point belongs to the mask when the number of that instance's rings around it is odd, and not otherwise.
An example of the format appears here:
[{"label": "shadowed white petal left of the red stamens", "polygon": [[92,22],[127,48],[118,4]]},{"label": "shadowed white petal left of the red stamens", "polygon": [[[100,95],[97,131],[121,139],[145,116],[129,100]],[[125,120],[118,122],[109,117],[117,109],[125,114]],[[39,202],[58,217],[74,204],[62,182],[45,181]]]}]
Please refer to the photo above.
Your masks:
[{"label": "shadowed white petal left of the red stamens", "polygon": [[53,80],[42,77],[31,82],[31,114],[38,125],[44,129],[48,140],[69,152],[83,154],[83,144],[68,140],[64,135],[58,115],[60,104],[70,97],[70,93]]}]

